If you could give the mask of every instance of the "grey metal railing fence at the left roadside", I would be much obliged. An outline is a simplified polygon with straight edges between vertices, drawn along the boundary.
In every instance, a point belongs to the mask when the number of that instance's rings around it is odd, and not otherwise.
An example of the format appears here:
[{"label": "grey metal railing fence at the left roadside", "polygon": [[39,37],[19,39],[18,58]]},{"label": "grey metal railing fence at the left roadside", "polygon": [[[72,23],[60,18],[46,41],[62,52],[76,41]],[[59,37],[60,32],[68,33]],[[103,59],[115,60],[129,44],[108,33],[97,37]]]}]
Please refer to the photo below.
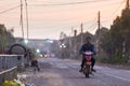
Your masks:
[{"label": "grey metal railing fence at the left roadside", "polygon": [[0,86],[3,81],[13,80],[17,74],[17,67],[23,67],[27,59],[23,55],[0,55]]}]

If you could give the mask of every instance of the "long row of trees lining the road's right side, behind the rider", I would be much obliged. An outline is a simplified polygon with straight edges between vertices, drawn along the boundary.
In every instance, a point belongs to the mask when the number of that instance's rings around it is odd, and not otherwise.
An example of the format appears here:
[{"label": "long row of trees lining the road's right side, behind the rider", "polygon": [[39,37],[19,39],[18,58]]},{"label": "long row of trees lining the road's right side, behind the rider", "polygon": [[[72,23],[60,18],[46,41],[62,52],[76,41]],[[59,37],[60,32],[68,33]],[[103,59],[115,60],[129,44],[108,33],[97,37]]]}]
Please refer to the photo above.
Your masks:
[{"label": "long row of trees lining the road's right side, behind the rider", "polygon": [[[64,34],[64,38],[62,34]],[[100,61],[128,63],[130,60],[130,9],[122,10],[121,16],[116,17],[110,29],[102,27],[96,30],[95,34],[84,32],[67,37],[62,32],[58,45],[64,43],[66,47],[63,51],[56,48],[57,53],[65,52],[66,58],[80,58],[81,35],[83,37],[83,43],[86,43],[86,37],[92,38],[92,43],[98,48],[96,56]]]}]

